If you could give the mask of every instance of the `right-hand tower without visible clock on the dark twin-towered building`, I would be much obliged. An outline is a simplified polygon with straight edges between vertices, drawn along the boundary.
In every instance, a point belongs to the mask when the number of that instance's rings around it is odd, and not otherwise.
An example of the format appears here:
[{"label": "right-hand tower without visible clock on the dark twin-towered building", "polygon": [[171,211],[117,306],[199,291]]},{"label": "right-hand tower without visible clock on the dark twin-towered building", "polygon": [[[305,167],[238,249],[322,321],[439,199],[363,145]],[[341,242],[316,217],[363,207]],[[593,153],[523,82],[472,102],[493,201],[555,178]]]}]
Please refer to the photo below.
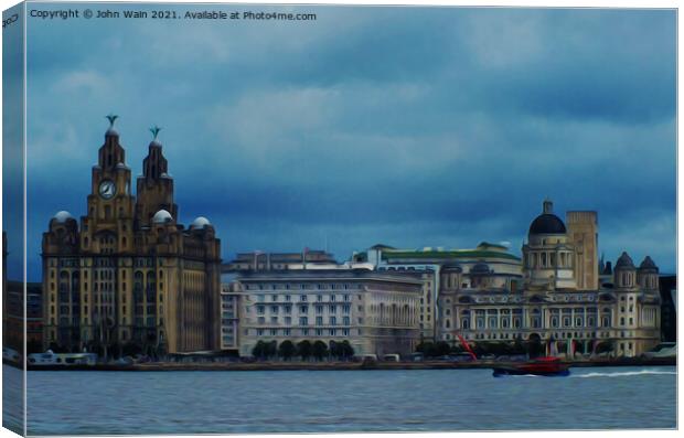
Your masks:
[{"label": "right-hand tower without visible clock on the dark twin-towered building", "polygon": [[178,205],[173,203],[173,179],[169,177],[168,163],[161,143],[157,140],[159,128],[152,128],[154,139],[142,161],[142,175],[138,177],[136,224],[150,226],[154,213],[165,210],[178,221]]}]

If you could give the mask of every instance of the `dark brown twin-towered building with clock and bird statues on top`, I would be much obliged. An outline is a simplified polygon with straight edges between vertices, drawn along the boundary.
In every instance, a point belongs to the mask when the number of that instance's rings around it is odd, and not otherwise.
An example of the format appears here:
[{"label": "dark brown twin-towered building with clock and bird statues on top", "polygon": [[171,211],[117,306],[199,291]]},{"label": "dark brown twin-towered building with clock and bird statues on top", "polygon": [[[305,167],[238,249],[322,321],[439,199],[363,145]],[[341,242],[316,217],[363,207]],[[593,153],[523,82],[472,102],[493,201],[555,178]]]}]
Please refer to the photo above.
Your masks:
[{"label": "dark brown twin-towered building with clock and bird statues on top", "polygon": [[43,234],[44,348],[218,349],[214,226],[202,216],[188,228],[180,224],[158,129],[133,195],[115,118],[92,169],[87,214],[77,221],[58,212]]}]

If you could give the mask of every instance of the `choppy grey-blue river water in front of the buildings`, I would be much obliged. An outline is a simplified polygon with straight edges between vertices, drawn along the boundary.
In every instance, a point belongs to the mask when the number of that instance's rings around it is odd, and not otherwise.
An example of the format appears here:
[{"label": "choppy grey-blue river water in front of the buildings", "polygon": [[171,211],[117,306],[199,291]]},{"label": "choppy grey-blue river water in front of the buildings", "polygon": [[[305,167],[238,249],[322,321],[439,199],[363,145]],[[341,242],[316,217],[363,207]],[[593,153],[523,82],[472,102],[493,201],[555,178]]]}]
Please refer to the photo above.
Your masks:
[{"label": "choppy grey-blue river water in front of the buildings", "polygon": [[29,372],[28,397],[30,435],[676,427],[675,367]]}]

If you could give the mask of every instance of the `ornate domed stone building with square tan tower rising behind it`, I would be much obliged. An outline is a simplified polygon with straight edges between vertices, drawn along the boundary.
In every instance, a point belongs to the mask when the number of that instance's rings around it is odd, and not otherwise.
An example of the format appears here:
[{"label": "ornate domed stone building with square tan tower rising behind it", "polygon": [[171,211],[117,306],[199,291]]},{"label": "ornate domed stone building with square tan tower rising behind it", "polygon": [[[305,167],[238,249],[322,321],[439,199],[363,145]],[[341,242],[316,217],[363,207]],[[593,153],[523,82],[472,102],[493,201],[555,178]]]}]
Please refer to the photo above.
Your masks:
[{"label": "ornate domed stone building with square tan tower rising behind it", "polygon": [[569,212],[567,217],[569,231],[552,202],[544,202],[522,248],[521,288],[509,286],[517,275],[502,275],[484,261],[469,270],[443,266],[439,338],[535,342],[568,355],[598,348],[613,356],[635,356],[655,345],[661,300],[653,260],[645,257],[637,268],[622,253],[614,270],[608,265],[599,281],[596,213]]}]

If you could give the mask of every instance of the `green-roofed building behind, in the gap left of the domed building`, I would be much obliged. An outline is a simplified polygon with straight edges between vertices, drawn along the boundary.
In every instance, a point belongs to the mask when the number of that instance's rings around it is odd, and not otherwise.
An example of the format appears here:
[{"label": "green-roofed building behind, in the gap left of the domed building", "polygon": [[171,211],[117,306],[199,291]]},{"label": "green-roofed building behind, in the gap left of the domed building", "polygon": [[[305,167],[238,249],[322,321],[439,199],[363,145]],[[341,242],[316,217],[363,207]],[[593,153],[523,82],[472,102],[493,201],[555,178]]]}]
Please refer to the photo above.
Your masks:
[{"label": "green-roofed building behind, in the gap left of the domed building", "polygon": [[482,263],[493,270],[491,277],[496,277],[496,284],[509,290],[520,288],[523,278],[520,257],[511,254],[506,246],[488,242],[482,242],[473,249],[397,249],[387,245],[375,245],[364,253],[354,254],[352,259],[370,263],[377,270],[421,273],[425,282],[419,320],[421,336],[428,341],[440,339],[437,320],[442,269],[458,266],[464,273],[460,277],[463,287],[469,287],[471,281],[481,281],[477,269],[473,276],[470,273]]}]

